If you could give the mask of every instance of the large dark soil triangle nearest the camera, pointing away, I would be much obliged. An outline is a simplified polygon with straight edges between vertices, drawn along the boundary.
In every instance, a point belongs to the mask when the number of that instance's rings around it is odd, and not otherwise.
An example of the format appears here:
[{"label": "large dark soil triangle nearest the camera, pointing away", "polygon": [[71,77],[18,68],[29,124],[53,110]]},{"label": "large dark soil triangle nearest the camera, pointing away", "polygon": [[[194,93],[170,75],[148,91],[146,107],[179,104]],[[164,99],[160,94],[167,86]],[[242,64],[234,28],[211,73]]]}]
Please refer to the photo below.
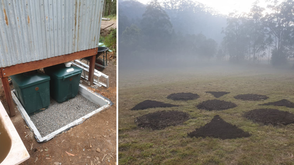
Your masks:
[{"label": "large dark soil triangle nearest the camera, pointing away", "polygon": [[193,132],[188,133],[189,137],[213,137],[220,139],[235,139],[235,138],[247,138],[251,136],[248,132],[244,132],[236,125],[225,122],[220,116],[216,115],[213,119],[205,124],[205,126],[196,129]]}]

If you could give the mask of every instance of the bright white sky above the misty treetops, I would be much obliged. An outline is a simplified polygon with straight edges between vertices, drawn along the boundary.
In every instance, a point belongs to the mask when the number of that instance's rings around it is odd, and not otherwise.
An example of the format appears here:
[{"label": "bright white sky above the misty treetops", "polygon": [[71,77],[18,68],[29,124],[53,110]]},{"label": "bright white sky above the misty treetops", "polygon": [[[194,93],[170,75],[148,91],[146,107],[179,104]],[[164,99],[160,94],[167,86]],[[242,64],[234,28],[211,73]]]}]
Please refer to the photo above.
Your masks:
[{"label": "bright white sky above the misty treetops", "polygon": [[[141,3],[147,4],[150,0],[138,0]],[[158,0],[161,2],[162,0]],[[228,15],[234,10],[237,10],[239,13],[246,12],[249,13],[251,5],[256,0],[194,0],[200,3],[203,3],[209,7],[212,7],[218,10],[221,14]],[[259,0],[259,6],[266,9],[268,3],[265,0]]]}]

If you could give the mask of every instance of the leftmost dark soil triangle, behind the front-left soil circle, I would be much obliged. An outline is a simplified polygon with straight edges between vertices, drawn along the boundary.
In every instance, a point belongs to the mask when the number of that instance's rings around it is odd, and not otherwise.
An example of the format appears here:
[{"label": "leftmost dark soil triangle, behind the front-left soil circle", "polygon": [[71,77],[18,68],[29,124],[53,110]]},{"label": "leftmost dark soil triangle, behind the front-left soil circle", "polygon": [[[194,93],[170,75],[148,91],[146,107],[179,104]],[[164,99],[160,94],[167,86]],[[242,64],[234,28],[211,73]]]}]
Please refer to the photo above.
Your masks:
[{"label": "leftmost dark soil triangle, behind the front-left soil circle", "polygon": [[143,110],[148,108],[157,108],[157,107],[178,107],[178,105],[166,104],[160,101],[145,100],[141,103],[135,105],[131,110]]}]

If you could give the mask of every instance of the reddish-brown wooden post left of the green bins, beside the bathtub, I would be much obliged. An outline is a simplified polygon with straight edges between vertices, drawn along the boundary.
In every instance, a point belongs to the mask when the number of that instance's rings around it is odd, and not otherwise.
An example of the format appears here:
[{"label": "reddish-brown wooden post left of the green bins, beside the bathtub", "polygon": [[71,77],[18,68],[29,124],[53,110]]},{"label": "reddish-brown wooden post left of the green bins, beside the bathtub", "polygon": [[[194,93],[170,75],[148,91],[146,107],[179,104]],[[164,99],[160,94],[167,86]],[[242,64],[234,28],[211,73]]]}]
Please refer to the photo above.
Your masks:
[{"label": "reddish-brown wooden post left of the green bins, beside the bathtub", "polygon": [[2,81],[3,88],[4,88],[4,93],[5,93],[6,101],[8,104],[8,108],[10,111],[10,116],[14,116],[14,115],[16,115],[16,113],[15,113],[15,109],[14,109],[14,105],[13,105],[13,100],[12,100],[12,95],[11,95],[10,86],[9,86],[9,82],[8,82],[8,77],[1,78],[1,81]]}]

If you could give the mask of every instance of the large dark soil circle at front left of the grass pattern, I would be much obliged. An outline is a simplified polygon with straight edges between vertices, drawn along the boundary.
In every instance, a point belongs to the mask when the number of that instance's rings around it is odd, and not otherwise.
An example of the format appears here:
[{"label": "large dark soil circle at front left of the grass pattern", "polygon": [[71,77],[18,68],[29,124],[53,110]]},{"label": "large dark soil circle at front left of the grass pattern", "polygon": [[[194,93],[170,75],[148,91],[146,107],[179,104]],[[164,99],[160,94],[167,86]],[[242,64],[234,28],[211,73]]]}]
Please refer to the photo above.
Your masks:
[{"label": "large dark soil circle at front left of the grass pattern", "polygon": [[165,127],[176,126],[189,119],[189,114],[180,111],[159,111],[138,117],[135,121],[139,127],[149,127],[161,130]]}]

